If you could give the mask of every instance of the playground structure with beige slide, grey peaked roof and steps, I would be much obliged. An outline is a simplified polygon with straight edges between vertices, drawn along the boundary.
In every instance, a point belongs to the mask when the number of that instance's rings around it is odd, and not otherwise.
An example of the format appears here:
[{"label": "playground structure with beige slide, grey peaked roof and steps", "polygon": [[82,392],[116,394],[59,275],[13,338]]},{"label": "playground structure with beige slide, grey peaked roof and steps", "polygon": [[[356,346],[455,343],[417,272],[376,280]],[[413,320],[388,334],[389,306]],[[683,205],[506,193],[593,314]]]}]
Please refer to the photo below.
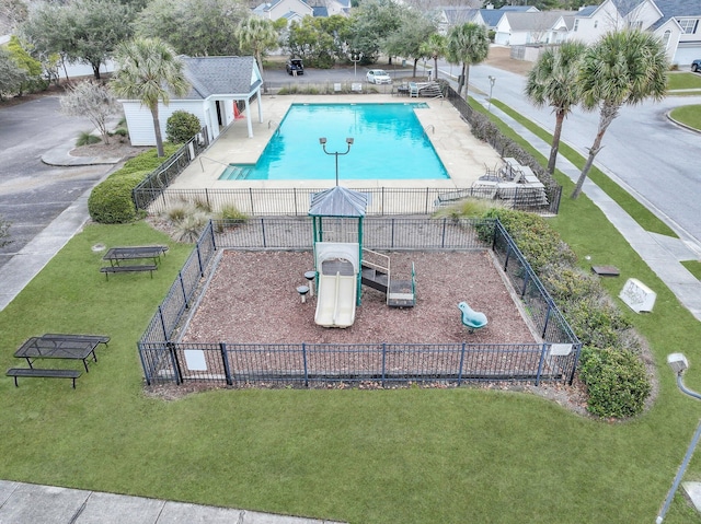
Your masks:
[{"label": "playground structure with beige slide, grey peaked roof and steps", "polygon": [[[352,326],[364,284],[383,292],[389,306],[414,306],[413,265],[411,280],[392,280],[390,258],[363,248],[367,203],[367,195],[341,186],[312,196],[309,216],[313,224],[318,290],[314,322],[320,326]],[[364,254],[376,261],[364,260]]]}]

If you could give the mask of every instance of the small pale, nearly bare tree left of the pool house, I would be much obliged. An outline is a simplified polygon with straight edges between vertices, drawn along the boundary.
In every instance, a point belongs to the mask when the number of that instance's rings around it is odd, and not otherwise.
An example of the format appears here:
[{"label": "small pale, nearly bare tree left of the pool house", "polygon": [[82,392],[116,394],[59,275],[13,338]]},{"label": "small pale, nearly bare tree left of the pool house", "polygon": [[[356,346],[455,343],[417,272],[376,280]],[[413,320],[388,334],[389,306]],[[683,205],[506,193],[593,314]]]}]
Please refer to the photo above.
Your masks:
[{"label": "small pale, nearly bare tree left of the pool house", "polygon": [[110,143],[107,117],[119,110],[117,100],[104,84],[80,82],[61,96],[61,113],[87,117],[99,130],[104,143]]}]

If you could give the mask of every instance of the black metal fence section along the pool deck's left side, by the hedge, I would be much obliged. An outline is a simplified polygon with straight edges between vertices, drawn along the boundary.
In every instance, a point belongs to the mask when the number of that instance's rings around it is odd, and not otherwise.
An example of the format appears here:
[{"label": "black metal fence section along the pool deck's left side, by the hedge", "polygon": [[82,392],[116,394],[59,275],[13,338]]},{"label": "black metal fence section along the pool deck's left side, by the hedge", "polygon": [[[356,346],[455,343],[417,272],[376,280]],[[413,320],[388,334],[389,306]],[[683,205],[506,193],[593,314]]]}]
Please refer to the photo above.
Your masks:
[{"label": "black metal fence section along the pool deck's left side, by the hedge", "polygon": [[209,135],[205,126],[131,190],[136,209],[148,209],[160,191],[170,186],[175,177],[208,147]]}]

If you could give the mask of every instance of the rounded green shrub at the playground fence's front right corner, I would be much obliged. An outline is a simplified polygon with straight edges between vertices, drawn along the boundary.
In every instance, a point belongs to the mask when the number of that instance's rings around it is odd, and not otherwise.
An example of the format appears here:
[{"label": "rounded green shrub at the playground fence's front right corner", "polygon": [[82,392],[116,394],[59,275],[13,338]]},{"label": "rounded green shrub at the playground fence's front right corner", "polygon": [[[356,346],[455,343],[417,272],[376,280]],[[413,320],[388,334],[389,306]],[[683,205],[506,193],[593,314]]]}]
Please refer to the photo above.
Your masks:
[{"label": "rounded green shrub at the playground fence's front right corner", "polygon": [[587,410],[599,417],[633,417],[652,391],[645,366],[632,352],[584,347],[579,376],[589,395]]}]

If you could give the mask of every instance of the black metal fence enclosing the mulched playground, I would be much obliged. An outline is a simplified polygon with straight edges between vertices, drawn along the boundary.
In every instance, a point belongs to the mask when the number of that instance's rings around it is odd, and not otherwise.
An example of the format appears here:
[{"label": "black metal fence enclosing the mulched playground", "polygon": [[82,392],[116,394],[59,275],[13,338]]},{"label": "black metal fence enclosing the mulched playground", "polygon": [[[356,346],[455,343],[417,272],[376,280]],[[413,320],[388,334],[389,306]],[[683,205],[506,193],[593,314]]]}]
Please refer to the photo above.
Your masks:
[{"label": "black metal fence enclosing the mulched playground", "polygon": [[[217,251],[311,249],[310,220],[260,218],[210,222],[138,342],[148,384],[197,381],[231,386],[337,383],[449,384],[483,381],[572,383],[581,343],[538,277],[497,221],[367,218],[371,249],[475,251],[492,246],[542,342],[183,343],[179,327],[214,271]],[[235,225],[235,226],[234,226]],[[343,235],[343,231],[336,234]]]}]

